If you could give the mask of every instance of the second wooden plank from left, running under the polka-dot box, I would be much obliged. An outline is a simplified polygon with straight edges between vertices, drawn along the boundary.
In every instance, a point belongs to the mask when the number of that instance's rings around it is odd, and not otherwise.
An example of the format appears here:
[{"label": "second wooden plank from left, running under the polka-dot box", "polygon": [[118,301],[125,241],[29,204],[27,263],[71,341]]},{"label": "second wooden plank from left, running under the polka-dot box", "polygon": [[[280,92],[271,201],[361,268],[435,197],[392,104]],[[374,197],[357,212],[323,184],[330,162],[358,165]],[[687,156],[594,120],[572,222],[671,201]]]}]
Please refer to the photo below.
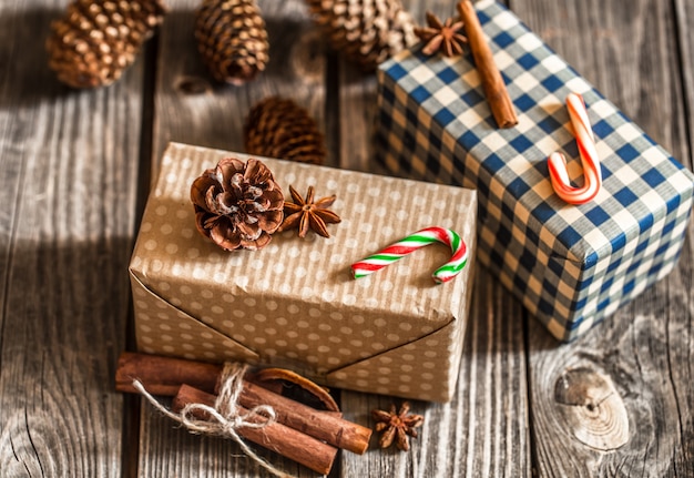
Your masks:
[{"label": "second wooden plank from left, running under the polka-dot box", "polygon": [[[293,99],[323,126],[325,50],[302,0],[258,2],[267,24],[271,60],[264,73],[243,87],[214,83],[202,64],[193,38],[198,4],[195,0],[169,2],[171,12],[161,29],[154,98],[155,171],[169,141],[243,152],[247,112],[269,95]],[[330,135],[331,148],[329,141]],[[315,476],[290,460],[254,449],[289,474]],[[142,405],[137,475],[271,476],[231,440],[192,436],[149,404]]]}]

